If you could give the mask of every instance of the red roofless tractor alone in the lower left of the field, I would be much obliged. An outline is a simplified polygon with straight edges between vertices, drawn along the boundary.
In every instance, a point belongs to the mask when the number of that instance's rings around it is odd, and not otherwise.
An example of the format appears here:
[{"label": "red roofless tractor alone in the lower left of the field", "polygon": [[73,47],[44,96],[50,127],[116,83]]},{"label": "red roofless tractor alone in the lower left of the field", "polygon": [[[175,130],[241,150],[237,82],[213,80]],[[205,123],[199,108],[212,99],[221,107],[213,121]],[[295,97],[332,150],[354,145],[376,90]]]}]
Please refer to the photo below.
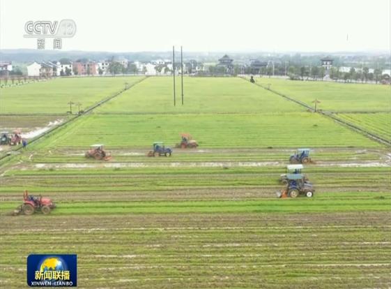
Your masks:
[{"label": "red roofless tractor alone in the lower left of the field", "polygon": [[20,205],[15,209],[14,215],[32,215],[35,212],[42,212],[46,215],[52,212],[52,209],[55,207],[56,205],[49,198],[42,198],[42,195],[29,195],[28,191],[24,191],[23,205]]}]

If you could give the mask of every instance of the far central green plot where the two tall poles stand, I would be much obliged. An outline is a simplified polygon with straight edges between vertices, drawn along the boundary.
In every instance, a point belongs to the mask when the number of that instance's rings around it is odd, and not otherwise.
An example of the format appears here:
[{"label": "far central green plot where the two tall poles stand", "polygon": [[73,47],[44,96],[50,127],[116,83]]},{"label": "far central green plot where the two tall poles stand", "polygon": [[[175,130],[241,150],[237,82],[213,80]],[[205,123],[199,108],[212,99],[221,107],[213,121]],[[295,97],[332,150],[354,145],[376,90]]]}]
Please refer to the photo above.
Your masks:
[{"label": "far central green plot where the two tall poles stand", "polygon": [[[171,77],[149,77],[126,91],[116,101],[98,110],[101,113],[267,113],[302,112],[299,105],[252,86],[240,78],[185,77],[185,104],[181,105],[181,87],[176,88],[176,107],[173,104]],[[182,121],[192,121],[187,117]]]}]

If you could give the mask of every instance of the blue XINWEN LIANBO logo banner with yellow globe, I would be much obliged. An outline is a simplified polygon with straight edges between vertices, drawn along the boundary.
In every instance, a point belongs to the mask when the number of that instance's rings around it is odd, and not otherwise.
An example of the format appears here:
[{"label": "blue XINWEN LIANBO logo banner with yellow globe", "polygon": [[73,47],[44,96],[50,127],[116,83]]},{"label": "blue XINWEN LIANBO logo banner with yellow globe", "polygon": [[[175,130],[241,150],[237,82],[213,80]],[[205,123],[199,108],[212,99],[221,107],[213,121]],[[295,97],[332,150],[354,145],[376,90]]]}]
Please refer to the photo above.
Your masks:
[{"label": "blue XINWEN LIANBO logo banner with yellow globe", "polygon": [[76,287],[77,255],[29,255],[27,257],[27,284],[31,287]]}]

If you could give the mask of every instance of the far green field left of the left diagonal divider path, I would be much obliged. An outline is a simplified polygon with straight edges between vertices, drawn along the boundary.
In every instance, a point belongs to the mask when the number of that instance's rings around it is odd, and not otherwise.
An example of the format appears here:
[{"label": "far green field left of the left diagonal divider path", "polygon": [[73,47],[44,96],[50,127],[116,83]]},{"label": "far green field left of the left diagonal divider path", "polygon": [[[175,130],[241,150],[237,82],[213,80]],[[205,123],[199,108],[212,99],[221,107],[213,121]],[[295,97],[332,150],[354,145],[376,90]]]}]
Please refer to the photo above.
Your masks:
[{"label": "far green field left of the left diagonal divider path", "polygon": [[[0,114],[66,114],[68,102],[81,109],[111,96],[141,77],[73,77],[0,89]],[[77,106],[74,105],[74,110]]]}]

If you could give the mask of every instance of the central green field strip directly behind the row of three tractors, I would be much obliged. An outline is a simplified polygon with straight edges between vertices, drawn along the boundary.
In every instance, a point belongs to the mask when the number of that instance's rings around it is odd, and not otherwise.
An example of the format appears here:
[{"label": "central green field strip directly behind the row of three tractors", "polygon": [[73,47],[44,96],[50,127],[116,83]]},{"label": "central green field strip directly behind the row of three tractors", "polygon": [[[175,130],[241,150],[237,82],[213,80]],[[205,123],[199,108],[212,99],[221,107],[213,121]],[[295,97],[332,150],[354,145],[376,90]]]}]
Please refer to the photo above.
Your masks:
[{"label": "central green field strip directly behind the row of three tractors", "polygon": [[103,143],[107,149],[172,146],[183,132],[200,148],[381,147],[319,114],[94,114],[47,138],[40,148],[84,148]]}]

